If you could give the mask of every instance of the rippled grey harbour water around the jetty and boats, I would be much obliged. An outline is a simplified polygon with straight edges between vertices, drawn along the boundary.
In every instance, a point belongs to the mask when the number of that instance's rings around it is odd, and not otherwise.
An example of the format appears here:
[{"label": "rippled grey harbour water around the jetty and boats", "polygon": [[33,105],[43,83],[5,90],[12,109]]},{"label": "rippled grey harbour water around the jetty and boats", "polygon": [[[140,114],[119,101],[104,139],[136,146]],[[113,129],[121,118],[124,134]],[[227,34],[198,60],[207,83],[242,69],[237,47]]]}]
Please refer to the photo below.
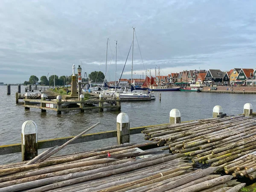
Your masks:
[{"label": "rippled grey harbour water around the jetty and boats", "polygon": [[[15,104],[17,86],[11,86],[11,95],[6,95],[6,86],[0,86],[0,145],[20,143],[21,126],[26,120],[33,120],[38,126],[38,140],[75,136],[96,122],[101,122],[88,133],[116,130],[116,116],[118,111],[98,110],[62,112],[55,111],[41,113],[39,109],[30,108],[25,111],[23,106]],[[22,93],[24,87],[21,86]],[[243,106],[256,102],[254,94],[225,94],[225,93],[192,93],[192,92],[155,92],[155,101],[122,102],[121,112],[128,114],[130,126],[138,127],[156,125],[169,122],[169,112],[177,108],[181,113],[181,120],[194,120],[212,117],[215,105],[221,105],[227,114],[243,113]],[[131,142],[144,142],[143,134],[131,135]],[[80,143],[65,147],[60,153],[84,151],[107,145],[115,145],[116,139],[105,139],[94,142]],[[40,151],[39,151],[40,152]],[[15,162],[21,159],[20,153],[0,156],[0,164]]]}]

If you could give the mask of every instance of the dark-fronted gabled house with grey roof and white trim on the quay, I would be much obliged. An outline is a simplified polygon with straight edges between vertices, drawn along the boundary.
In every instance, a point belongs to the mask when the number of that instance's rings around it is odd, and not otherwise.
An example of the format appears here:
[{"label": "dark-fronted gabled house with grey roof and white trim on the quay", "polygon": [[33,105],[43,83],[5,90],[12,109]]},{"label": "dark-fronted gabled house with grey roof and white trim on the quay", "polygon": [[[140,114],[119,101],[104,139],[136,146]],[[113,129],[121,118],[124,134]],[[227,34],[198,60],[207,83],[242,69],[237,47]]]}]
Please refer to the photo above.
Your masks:
[{"label": "dark-fronted gabled house with grey roof and white trim on the quay", "polygon": [[205,76],[206,85],[221,85],[223,80],[223,72],[221,70],[208,70]]}]

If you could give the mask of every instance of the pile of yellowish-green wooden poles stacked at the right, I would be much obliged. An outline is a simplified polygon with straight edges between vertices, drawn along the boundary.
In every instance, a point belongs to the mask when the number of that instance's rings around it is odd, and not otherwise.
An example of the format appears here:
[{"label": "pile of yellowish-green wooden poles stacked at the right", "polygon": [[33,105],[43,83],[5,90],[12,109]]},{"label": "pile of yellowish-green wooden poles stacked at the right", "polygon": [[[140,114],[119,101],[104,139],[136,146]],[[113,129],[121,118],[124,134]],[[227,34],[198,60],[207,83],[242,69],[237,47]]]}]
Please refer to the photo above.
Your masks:
[{"label": "pile of yellowish-green wooden poles stacked at the right", "polygon": [[211,163],[234,176],[256,178],[256,119],[232,116],[147,128],[145,139],[168,145],[194,163]]}]

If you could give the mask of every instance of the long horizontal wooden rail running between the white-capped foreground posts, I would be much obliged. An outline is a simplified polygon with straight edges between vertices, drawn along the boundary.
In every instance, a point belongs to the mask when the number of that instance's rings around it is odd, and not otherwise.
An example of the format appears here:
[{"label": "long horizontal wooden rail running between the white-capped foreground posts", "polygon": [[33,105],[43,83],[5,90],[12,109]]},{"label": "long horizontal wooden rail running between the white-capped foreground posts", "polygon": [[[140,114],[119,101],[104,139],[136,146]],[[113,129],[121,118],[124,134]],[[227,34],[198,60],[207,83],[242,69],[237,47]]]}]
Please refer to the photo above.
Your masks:
[{"label": "long horizontal wooden rail running between the white-capped foreground posts", "polygon": [[[168,125],[168,124],[162,124],[162,125]],[[131,128],[130,134],[140,134],[141,131],[143,131],[145,128],[153,127],[158,125],[149,125],[145,127],[137,127],[137,128]],[[88,141],[95,141],[95,140],[102,140],[102,139],[108,139],[116,137],[116,131],[105,131],[101,133],[94,133],[94,134],[85,134],[82,135],[80,138],[72,142],[71,144],[75,143],[84,143]],[[56,145],[62,145],[66,143],[68,140],[71,140],[74,137],[62,137],[62,138],[56,138],[56,139],[49,139],[49,140],[41,140],[38,141],[38,149],[41,148],[50,148]],[[21,152],[21,144],[10,144],[10,145],[1,145],[0,146],[0,155],[4,154],[12,154],[12,153],[18,153]]]}]

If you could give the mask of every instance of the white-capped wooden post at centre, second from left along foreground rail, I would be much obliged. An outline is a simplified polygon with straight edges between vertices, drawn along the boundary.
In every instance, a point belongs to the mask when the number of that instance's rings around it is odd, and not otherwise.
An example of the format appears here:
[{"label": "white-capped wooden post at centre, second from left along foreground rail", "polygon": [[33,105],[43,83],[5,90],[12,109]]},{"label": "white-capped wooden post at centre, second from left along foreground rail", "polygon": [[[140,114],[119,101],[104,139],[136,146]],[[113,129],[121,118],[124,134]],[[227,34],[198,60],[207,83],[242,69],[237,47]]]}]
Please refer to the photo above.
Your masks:
[{"label": "white-capped wooden post at centre, second from left along foreground rail", "polygon": [[130,142],[130,123],[126,113],[119,113],[116,118],[117,144]]}]

